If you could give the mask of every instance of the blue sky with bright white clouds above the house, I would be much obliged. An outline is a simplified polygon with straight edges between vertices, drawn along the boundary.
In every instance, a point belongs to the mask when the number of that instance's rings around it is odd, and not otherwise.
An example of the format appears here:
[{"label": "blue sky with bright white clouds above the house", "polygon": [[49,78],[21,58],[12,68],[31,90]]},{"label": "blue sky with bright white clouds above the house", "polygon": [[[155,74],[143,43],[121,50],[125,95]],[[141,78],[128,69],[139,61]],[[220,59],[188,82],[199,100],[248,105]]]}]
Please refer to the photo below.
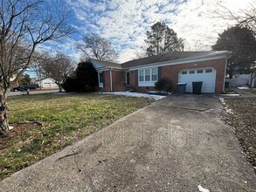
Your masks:
[{"label": "blue sky with bright white clouds above the house", "polygon": [[[177,6],[174,6],[178,2]],[[73,11],[76,33],[54,44],[41,46],[46,51],[60,51],[79,61],[75,44],[93,32],[107,38],[119,53],[117,62],[134,59],[142,52],[146,31],[163,21],[185,38],[185,51],[211,50],[218,33],[232,21],[213,17],[214,10],[227,7],[239,14],[255,0],[63,0]]]}]

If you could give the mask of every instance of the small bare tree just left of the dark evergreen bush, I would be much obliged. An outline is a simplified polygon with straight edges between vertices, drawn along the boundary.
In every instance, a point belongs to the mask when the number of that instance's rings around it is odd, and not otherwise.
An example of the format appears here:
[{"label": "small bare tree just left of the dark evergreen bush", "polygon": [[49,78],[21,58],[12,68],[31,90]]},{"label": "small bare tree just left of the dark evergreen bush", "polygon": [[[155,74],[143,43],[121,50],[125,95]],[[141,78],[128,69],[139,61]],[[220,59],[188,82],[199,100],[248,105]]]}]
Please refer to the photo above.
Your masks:
[{"label": "small bare tree just left of the dark evergreen bush", "polygon": [[42,66],[45,76],[53,79],[59,86],[59,92],[62,91],[64,80],[74,70],[71,58],[60,53],[55,57],[45,59],[44,65]]}]

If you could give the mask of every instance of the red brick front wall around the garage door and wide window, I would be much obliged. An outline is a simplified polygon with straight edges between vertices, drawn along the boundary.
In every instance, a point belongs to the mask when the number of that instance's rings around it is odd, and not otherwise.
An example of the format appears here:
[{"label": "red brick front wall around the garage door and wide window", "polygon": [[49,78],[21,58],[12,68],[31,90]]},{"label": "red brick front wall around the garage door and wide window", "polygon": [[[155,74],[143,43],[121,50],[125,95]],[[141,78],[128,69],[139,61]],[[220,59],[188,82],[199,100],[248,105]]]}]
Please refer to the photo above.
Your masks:
[{"label": "red brick front wall around the garage door and wide window", "polygon": [[[222,93],[224,87],[224,79],[225,79],[225,58],[209,60],[209,61],[201,61],[189,64],[182,65],[169,65],[161,67],[162,78],[166,77],[170,79],[173,83],[173,91],[177,91],[177,82],[178,82],[178,73],[184,69],[195,69],[195,68],[204,68],[204,67],[212,67],[216,72],[216,86],[215,92]],[[130,72],[130,86],[137,92],[146,92],[155,90],[154,86],[135,86],[135,71]]]}]

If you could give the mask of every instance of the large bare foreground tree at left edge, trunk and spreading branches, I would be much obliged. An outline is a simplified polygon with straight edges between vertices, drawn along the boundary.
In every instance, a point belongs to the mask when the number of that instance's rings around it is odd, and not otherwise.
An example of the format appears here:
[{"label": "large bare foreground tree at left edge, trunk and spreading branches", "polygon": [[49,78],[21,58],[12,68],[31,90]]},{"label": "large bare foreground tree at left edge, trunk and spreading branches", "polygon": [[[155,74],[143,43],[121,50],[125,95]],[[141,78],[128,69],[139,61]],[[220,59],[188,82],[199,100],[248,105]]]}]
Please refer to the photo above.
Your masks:
[{"label": "large bare foreground tree at left edge, trunk and spreading branches", "polygon": [[[44,0],[0,0],[0,134],[9,130],[7,94],[10,77],[16,79],[31,65],[38,45],[72,32],[70,13],[63,5]],[[15,79],[15,80],[16,80]]]}]

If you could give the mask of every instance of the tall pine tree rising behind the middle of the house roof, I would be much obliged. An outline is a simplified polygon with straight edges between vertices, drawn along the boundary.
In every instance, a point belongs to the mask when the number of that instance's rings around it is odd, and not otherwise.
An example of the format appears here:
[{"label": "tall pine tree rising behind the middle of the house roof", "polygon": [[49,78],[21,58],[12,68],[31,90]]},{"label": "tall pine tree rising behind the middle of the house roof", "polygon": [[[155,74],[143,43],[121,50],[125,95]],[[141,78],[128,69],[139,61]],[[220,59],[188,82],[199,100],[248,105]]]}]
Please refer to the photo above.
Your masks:
[{"label": "tall pine tree rising behind the middle of the house roof", "polygon": [[163,22],[157,22],[147,31],[147,55],[158,55],[168,51],[183,51],[183,39],[177,38],[176,32]]}]

